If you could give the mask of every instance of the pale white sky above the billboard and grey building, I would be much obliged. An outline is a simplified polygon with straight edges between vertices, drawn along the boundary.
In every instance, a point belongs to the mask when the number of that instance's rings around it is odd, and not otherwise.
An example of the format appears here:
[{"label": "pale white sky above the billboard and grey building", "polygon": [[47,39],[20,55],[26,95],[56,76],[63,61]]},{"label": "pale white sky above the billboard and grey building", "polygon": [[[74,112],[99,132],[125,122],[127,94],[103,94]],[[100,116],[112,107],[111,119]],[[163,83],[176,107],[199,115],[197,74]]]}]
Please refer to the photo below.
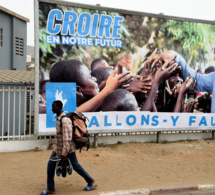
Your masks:
[{"label": "pale white sky above the billboard and grey building", "polygon": [[[109,8],[215,22],[214,0],[67,0],[67,2],[100,4]],[[0,0],[0,5],[30,20],[27,24],[27,45],[34,46],[34,0]]]}]

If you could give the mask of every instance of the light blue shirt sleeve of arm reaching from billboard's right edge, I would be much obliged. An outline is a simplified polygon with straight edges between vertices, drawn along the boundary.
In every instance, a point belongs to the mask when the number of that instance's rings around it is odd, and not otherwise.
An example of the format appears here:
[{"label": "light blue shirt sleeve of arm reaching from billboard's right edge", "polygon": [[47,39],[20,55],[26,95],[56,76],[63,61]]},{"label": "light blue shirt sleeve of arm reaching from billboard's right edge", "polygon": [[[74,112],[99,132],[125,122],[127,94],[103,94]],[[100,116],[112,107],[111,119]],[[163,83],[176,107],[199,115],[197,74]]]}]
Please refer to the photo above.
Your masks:
[{"label": "light blue shirt sleeve of arm reaching from billboard's right edge", "polygon": [[186,79],[188,76],[193,76],[195,78],[196,89],[198,91],[212,91],[211,113],[215,113],[215,72],[210,74],[198,74],[195,70],[188,66],[185,59],[179,54],[177,55],[175,62],[181,66],[183,79]]}]

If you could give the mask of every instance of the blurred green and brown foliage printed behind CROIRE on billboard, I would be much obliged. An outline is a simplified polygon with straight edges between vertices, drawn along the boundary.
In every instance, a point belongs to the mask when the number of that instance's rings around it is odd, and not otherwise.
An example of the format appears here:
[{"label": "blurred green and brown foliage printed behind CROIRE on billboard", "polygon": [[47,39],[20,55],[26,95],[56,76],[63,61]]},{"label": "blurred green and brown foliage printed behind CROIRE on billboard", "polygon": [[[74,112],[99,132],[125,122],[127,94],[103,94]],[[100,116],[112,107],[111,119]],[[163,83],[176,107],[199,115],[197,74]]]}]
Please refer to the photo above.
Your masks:
[{"label": "blurred green and brown foliage printed behind CROIRE on billboard", "polygon": [[[107,14],[112,18],[118,15],[123,16],[124,21],[121,23],[122,29],[119,32],[122,35],[123,47],[47,44],[45,40],[47,35],[46,20],[51,9],[71,10],[77,12],[78,15],[87,12],[91,15],[94,13]],[[119,14],[48,3],[40,3],[39,26],[40,66],[43,71],[49,69],[54,62],[70,58],[79,59],[88,67],[93,59],[100,57],[111,64],[117,62],[124,54],[135,54],[146,46],[150,52],[154,48],[176,50],[194,67],[197,61],[207,62],[206,55],[209,52],[207,46],[215,44],[215,26],[210,24]],[[149,39],[152,32],[155,32],[155,36],[151,43]],[[59,34],[59,36],[61,35]]]}]

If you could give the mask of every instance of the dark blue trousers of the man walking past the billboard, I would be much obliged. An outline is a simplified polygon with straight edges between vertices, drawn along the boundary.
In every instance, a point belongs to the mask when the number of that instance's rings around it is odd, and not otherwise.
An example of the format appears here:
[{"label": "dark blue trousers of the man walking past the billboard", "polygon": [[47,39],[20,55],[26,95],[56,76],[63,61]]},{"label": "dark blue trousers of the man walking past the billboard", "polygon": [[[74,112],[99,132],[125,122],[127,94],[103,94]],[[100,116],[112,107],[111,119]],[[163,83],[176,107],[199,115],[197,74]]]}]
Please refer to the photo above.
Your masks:
[{"label": "dark blue trousers of the man walking past the billboard", "polygon": [[[55,157],[56,152],[53,151],[51,157]],[[82,176],[87,183],[90,183],[93,181],[93,178],[89,176],[89,174],[82,168],[82,166],[78,163],[77,157],[75,152],[70,153],[67,155],[67,158],[70,159],[73,169],[80,175]],[[48,190],[55,190],[55,184],[54,184],[54,176],[55,176],[55,165],[56,162],[54,161],[48,161],[48,166],[47,166],[47,189]]]}]

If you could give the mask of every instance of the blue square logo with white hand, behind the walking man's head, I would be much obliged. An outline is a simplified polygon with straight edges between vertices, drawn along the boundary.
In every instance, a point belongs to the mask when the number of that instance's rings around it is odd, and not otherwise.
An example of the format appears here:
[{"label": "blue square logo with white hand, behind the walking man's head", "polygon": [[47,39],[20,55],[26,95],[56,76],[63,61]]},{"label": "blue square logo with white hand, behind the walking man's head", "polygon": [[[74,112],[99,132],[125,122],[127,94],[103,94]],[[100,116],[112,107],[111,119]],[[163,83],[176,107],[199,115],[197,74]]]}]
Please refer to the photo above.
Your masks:
[{"label": "blue square logo with white hand, behind the walking man's head", "polygon": [[60,100],[64,112],[76,110],[76,83],[46,83],[46,128],[55,127],[56,114],[52,112],[52,103]]}]

